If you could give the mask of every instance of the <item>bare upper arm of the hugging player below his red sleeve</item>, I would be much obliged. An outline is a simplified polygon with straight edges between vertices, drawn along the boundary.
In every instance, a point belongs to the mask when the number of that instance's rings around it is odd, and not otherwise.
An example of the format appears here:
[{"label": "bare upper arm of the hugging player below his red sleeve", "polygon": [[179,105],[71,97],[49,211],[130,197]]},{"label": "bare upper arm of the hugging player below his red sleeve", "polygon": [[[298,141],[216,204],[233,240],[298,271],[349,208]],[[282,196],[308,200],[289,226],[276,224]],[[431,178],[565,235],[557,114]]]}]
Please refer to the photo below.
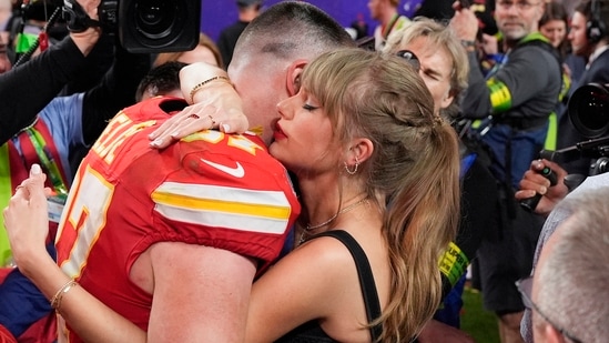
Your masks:
[{"label": "bare upper arm of the hugging player below his red sleeve", "polygon": [[255,263],[236,253],[179,242],[151,249],[154,292],[149,340],[243,342]]}]

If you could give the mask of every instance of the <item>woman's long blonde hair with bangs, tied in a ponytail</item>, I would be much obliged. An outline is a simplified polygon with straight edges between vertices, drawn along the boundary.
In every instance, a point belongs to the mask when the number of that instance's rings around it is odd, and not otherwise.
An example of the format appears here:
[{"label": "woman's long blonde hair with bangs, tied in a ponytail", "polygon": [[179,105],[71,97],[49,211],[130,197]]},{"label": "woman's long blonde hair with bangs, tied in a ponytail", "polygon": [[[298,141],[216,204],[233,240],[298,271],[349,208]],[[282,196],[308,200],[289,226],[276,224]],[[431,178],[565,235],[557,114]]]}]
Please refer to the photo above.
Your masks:
[{"label": "woman's long blonde hair with bangs, tied in a ponytail", "polygon": [[377,204],[385,210],[383,235],[393,275],[378,320],[380,340],[406,342],[440,303],[438,262],[459,218],[455,131],[434,114],[418,73],[396,56],[328,52],[305,69],[303,87],[326,110],[342,142],[368,138],[374,144],[358,176],[371,199],[387,199]]}]

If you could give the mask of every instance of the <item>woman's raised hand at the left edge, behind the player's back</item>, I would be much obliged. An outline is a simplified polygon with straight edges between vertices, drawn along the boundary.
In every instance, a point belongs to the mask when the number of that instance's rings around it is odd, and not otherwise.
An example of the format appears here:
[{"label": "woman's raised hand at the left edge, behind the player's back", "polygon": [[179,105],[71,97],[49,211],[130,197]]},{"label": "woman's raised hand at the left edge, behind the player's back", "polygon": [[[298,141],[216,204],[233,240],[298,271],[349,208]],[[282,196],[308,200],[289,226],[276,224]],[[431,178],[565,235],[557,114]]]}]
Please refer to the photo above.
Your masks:
[{"label": "woman's raised hand at the left edge, behind the player's back", "polygon": [[49,189],[44,189],[44,180],[47,175],[40,165],[33,164],[30,178],[17,186],[9,206],[3,211],[13,260],[26,276],[32,268],[42,265],[40,261],[52,261],[44,248],[49,234],[47,194],[50,193]]}]

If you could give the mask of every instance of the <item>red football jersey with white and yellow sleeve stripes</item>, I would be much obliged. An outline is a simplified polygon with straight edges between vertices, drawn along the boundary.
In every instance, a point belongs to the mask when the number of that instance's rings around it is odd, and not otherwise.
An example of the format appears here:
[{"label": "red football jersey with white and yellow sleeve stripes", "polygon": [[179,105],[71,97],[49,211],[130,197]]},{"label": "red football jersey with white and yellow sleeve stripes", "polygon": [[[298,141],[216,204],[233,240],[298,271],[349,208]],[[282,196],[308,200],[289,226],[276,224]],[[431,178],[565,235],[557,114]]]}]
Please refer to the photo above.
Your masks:
[{"label": "red football jersey with white and yellow sleeve stripes", "polygon": [[58,232],[61,269],[144,330],[152,296],[129,274],[151,244],[225,249],[262,270],[300,213],[287,172],[255,135],[209,130],[151,149],[146,135],[183,105],[155,98],[112,119],[79,168]]}]

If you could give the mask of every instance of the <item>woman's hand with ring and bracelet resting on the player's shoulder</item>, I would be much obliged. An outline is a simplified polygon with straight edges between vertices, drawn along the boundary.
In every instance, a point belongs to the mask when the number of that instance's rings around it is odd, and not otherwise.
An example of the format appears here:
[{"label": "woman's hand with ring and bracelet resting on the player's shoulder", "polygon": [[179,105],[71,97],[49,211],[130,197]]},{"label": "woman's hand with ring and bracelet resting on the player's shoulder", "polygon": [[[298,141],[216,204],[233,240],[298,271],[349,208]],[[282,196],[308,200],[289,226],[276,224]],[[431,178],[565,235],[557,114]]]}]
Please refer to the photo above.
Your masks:
[{"label": "woman's hand with ring and bracelet resting on the player's shoulder", "polygon": [[[214,80],[197,87],[201,81],[211,79]],[[205,129],[220,129],[225,133],[247,130],[248,122],[243,113],[241,98],[227,81],[224,70],[206,63],[193,63],[180,71],[180,83],[184,98],[194,104],[174,114],[152,132],[149,137],[151,147],[166,148],[175,140]]]}]

